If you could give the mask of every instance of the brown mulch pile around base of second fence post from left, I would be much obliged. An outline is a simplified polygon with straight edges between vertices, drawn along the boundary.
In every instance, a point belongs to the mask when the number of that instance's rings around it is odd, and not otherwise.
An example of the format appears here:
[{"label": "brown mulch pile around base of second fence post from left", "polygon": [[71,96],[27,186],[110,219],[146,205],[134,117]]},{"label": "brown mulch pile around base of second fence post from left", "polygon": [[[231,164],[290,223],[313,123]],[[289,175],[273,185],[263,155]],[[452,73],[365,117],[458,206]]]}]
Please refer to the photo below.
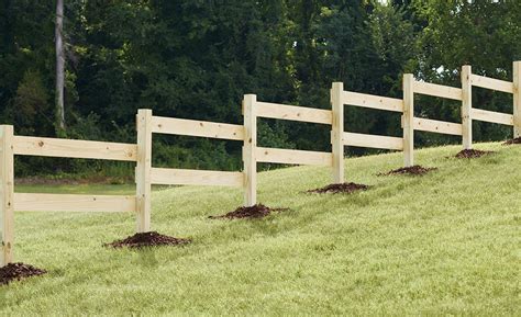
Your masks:
[{"label": "brown mulch pile around base of second fence post from left", "polygon": [[112,248],[145,248],[145,247],[156,247],[156,246],[179,246],[190,244],[190,239],[180,239],[169,236],[160,235],[156,231],[149,233],[138,233],[133,236],[130,236],[123,240],[115,240],[110,244],[104,244],[103,247]]}]

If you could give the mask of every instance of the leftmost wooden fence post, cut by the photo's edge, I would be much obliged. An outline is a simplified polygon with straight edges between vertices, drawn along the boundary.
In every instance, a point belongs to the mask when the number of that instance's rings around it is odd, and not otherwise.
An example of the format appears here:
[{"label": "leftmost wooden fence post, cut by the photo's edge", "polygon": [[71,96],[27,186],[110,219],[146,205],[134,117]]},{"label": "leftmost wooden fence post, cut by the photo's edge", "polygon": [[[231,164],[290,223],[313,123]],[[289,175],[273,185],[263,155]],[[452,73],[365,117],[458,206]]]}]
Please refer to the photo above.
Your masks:
[{"label": "leftmost wooden fence post, cut by the photo's edge", "polygon": [[13,126],[0,125],[0,229],[2,250],[0,267],[13,262],[14,242],[14,156],[13,156]]}]

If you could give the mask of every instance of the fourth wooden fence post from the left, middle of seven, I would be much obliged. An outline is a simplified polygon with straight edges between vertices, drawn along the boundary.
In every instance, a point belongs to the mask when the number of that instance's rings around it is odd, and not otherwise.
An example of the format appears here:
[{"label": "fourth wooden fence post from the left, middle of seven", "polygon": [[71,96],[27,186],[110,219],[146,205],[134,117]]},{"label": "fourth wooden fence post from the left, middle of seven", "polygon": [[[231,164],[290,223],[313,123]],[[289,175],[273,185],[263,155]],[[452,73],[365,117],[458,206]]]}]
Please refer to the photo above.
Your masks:
[{"label": "fourth wooden fence post from the left, middle of seven", "polygon": [[333,123],[331,125],[331,148],[333,154],[333,183],[344,182],[344,93],[343,82],[333,82],[330,91]]}]

